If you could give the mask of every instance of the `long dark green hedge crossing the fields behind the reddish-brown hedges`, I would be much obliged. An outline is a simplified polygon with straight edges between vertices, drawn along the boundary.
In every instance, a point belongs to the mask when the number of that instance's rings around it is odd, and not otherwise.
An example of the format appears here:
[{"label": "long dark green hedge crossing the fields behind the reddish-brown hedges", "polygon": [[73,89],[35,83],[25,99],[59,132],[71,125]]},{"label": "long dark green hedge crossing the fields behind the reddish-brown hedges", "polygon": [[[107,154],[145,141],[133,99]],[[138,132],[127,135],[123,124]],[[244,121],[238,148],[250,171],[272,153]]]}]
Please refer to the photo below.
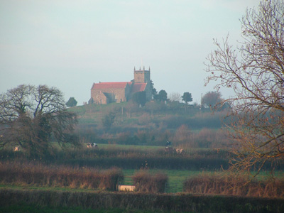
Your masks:
[{"label": "long dark green hedge crossing the fields behind the reddish-brown hedges", "polygon": [[[148,163],[148,168],[182,170],[219,170],[229,168],[228,151],[195,151],[194,153],[165,153],[164,148],[157,150],[99,149],[78,151],[57,151],[38,162],[62,165],[88,166],[92,168],[140,169]],[[0,151],[0,160],[30,160],[21,152]]]}]

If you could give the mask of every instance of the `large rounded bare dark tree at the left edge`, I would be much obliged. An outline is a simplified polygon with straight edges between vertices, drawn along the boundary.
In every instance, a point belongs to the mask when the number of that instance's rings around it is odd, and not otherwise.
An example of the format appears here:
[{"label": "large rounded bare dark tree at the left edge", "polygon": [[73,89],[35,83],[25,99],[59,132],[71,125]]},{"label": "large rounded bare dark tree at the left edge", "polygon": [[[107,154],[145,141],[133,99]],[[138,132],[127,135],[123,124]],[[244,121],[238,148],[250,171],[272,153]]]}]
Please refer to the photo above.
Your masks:
[{"label": "large rounded bare dark tree at the left edge", "polygon": [[80,145],[72,134],[77,116],[66,110],[62,92],[55,87],[20,85],[0,95],[0,146],[20,146],[32,156],[60,146]]}]

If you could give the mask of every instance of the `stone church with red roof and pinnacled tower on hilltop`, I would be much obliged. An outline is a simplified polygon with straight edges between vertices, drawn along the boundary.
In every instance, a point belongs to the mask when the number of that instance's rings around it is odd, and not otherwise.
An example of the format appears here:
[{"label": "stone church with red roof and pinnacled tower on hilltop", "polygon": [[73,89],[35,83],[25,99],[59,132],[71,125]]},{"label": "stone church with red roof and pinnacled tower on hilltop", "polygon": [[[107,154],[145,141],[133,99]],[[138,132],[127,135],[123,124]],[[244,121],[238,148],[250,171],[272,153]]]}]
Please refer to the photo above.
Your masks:
[{"label": "stone church with red roof and pinnacled tower on hilltop", "polygon": [[146,92],[146,100],[152,99],[150,67],[149,70],[136,70],[130,82],[99,82],[91,88],[89,104],[109,104],[112,102],[128,102],[132,94]]}]

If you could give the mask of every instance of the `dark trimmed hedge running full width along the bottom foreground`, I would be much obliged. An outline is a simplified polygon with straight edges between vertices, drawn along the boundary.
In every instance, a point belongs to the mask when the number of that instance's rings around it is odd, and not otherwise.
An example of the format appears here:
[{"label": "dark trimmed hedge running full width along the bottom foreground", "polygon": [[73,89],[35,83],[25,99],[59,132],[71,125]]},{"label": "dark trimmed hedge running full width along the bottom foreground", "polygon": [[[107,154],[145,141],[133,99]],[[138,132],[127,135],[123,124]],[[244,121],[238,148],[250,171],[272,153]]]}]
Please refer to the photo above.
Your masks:
[{"label": "dark trimmed hedge running full width along the bottom foreground", "polygon": [[46,190],[0,190],[0,206],[33,204],[85,209],[148,209],[173,212],[284,212],[283,199],[256,197],[165,195],[135,192],[62,192]]}]

